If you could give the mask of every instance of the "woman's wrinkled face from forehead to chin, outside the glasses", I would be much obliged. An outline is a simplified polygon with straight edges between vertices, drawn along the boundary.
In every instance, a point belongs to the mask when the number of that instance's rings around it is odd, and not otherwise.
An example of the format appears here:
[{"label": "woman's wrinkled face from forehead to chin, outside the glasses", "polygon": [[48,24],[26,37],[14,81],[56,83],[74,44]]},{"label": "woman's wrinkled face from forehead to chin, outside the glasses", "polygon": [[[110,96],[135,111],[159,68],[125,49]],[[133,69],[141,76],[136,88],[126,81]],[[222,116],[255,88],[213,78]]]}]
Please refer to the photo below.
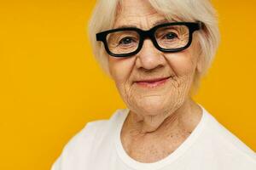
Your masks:
[{"label": "woman's wrinkled face from forehead to chin, outside the glasses", "polygon": [[[148,30],[165,20],[148,1],[124,0],[114,28],[137,26]],[[201,68],[197,48],[194,34],[192,44],[182,52],[160,52],[146,39],[136,55],[122,59],[108,56],[111,76],[128,108],[144,116],[166,115],[177,110],[189,96],[195,70]],[[166,79],[140,82],[158,78]]]}]

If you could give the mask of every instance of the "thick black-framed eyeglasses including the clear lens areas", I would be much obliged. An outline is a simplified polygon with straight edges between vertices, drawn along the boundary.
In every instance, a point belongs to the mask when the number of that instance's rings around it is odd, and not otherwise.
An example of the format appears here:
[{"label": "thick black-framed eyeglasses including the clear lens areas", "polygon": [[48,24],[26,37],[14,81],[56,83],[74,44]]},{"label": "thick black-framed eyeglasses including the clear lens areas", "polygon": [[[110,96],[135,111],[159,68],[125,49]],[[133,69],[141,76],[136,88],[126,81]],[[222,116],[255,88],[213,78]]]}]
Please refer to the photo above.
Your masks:
[{"label": "thick black-framed eyeglasses including the clear lens areas", "polygon": [[154,47],[162,52],[179,52],[189,48],[194,31],[200,30],[201,22],[170,22],[143,31],[135,27],[117,28],[96,34],[109,55],[129,57],[137,54],[146,38],[151,39]]}]

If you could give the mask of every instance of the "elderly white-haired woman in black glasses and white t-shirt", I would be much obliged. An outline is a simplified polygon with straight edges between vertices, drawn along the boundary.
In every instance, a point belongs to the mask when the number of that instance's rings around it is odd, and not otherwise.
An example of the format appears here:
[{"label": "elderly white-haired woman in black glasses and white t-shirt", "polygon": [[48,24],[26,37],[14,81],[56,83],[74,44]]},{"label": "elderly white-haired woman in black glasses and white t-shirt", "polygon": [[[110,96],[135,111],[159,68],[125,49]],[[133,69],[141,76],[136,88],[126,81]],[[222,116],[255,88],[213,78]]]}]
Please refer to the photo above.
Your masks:
[{"label": "elderly white-haired woman in black glasses and white t-shirt", "polygon": [[256,156],[191,96],[218,48],[208,0],[100,0],[96,59],[127,109],[89,122],[52,170],[255,170]]}]

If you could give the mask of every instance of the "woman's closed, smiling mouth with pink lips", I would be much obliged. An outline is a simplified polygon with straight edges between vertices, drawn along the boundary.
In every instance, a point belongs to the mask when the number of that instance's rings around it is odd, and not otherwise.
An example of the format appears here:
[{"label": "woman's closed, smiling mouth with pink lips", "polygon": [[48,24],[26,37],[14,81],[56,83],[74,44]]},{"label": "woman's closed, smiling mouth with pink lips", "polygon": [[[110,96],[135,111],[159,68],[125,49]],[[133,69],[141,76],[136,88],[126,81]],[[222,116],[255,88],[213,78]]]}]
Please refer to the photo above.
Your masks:
[{"label": "woman's closed, smiling mouth with pink lips", "polygon": [[143,81],[137,81],[135,82],[138,86],[143,88],[157,88],[160,87],[170,79],[170,77],[161,77],[161,78],[154,78],[154,79],[148,79]]}]

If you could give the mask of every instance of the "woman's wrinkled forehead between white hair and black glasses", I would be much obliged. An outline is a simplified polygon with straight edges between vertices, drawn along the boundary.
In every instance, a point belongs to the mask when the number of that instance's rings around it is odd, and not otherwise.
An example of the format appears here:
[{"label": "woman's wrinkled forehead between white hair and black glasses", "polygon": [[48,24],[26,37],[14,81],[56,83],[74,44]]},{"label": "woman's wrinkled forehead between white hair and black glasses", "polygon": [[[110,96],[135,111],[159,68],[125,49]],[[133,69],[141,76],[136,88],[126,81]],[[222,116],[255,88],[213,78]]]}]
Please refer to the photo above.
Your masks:
[{"label": "woman's wrinkled forehead between white hair and black glasses", "polygon": [[124,26],[154,26],[159,21],[166,20],[158,13],[148,0],[122,0],[117,8],[114,28]]}]

